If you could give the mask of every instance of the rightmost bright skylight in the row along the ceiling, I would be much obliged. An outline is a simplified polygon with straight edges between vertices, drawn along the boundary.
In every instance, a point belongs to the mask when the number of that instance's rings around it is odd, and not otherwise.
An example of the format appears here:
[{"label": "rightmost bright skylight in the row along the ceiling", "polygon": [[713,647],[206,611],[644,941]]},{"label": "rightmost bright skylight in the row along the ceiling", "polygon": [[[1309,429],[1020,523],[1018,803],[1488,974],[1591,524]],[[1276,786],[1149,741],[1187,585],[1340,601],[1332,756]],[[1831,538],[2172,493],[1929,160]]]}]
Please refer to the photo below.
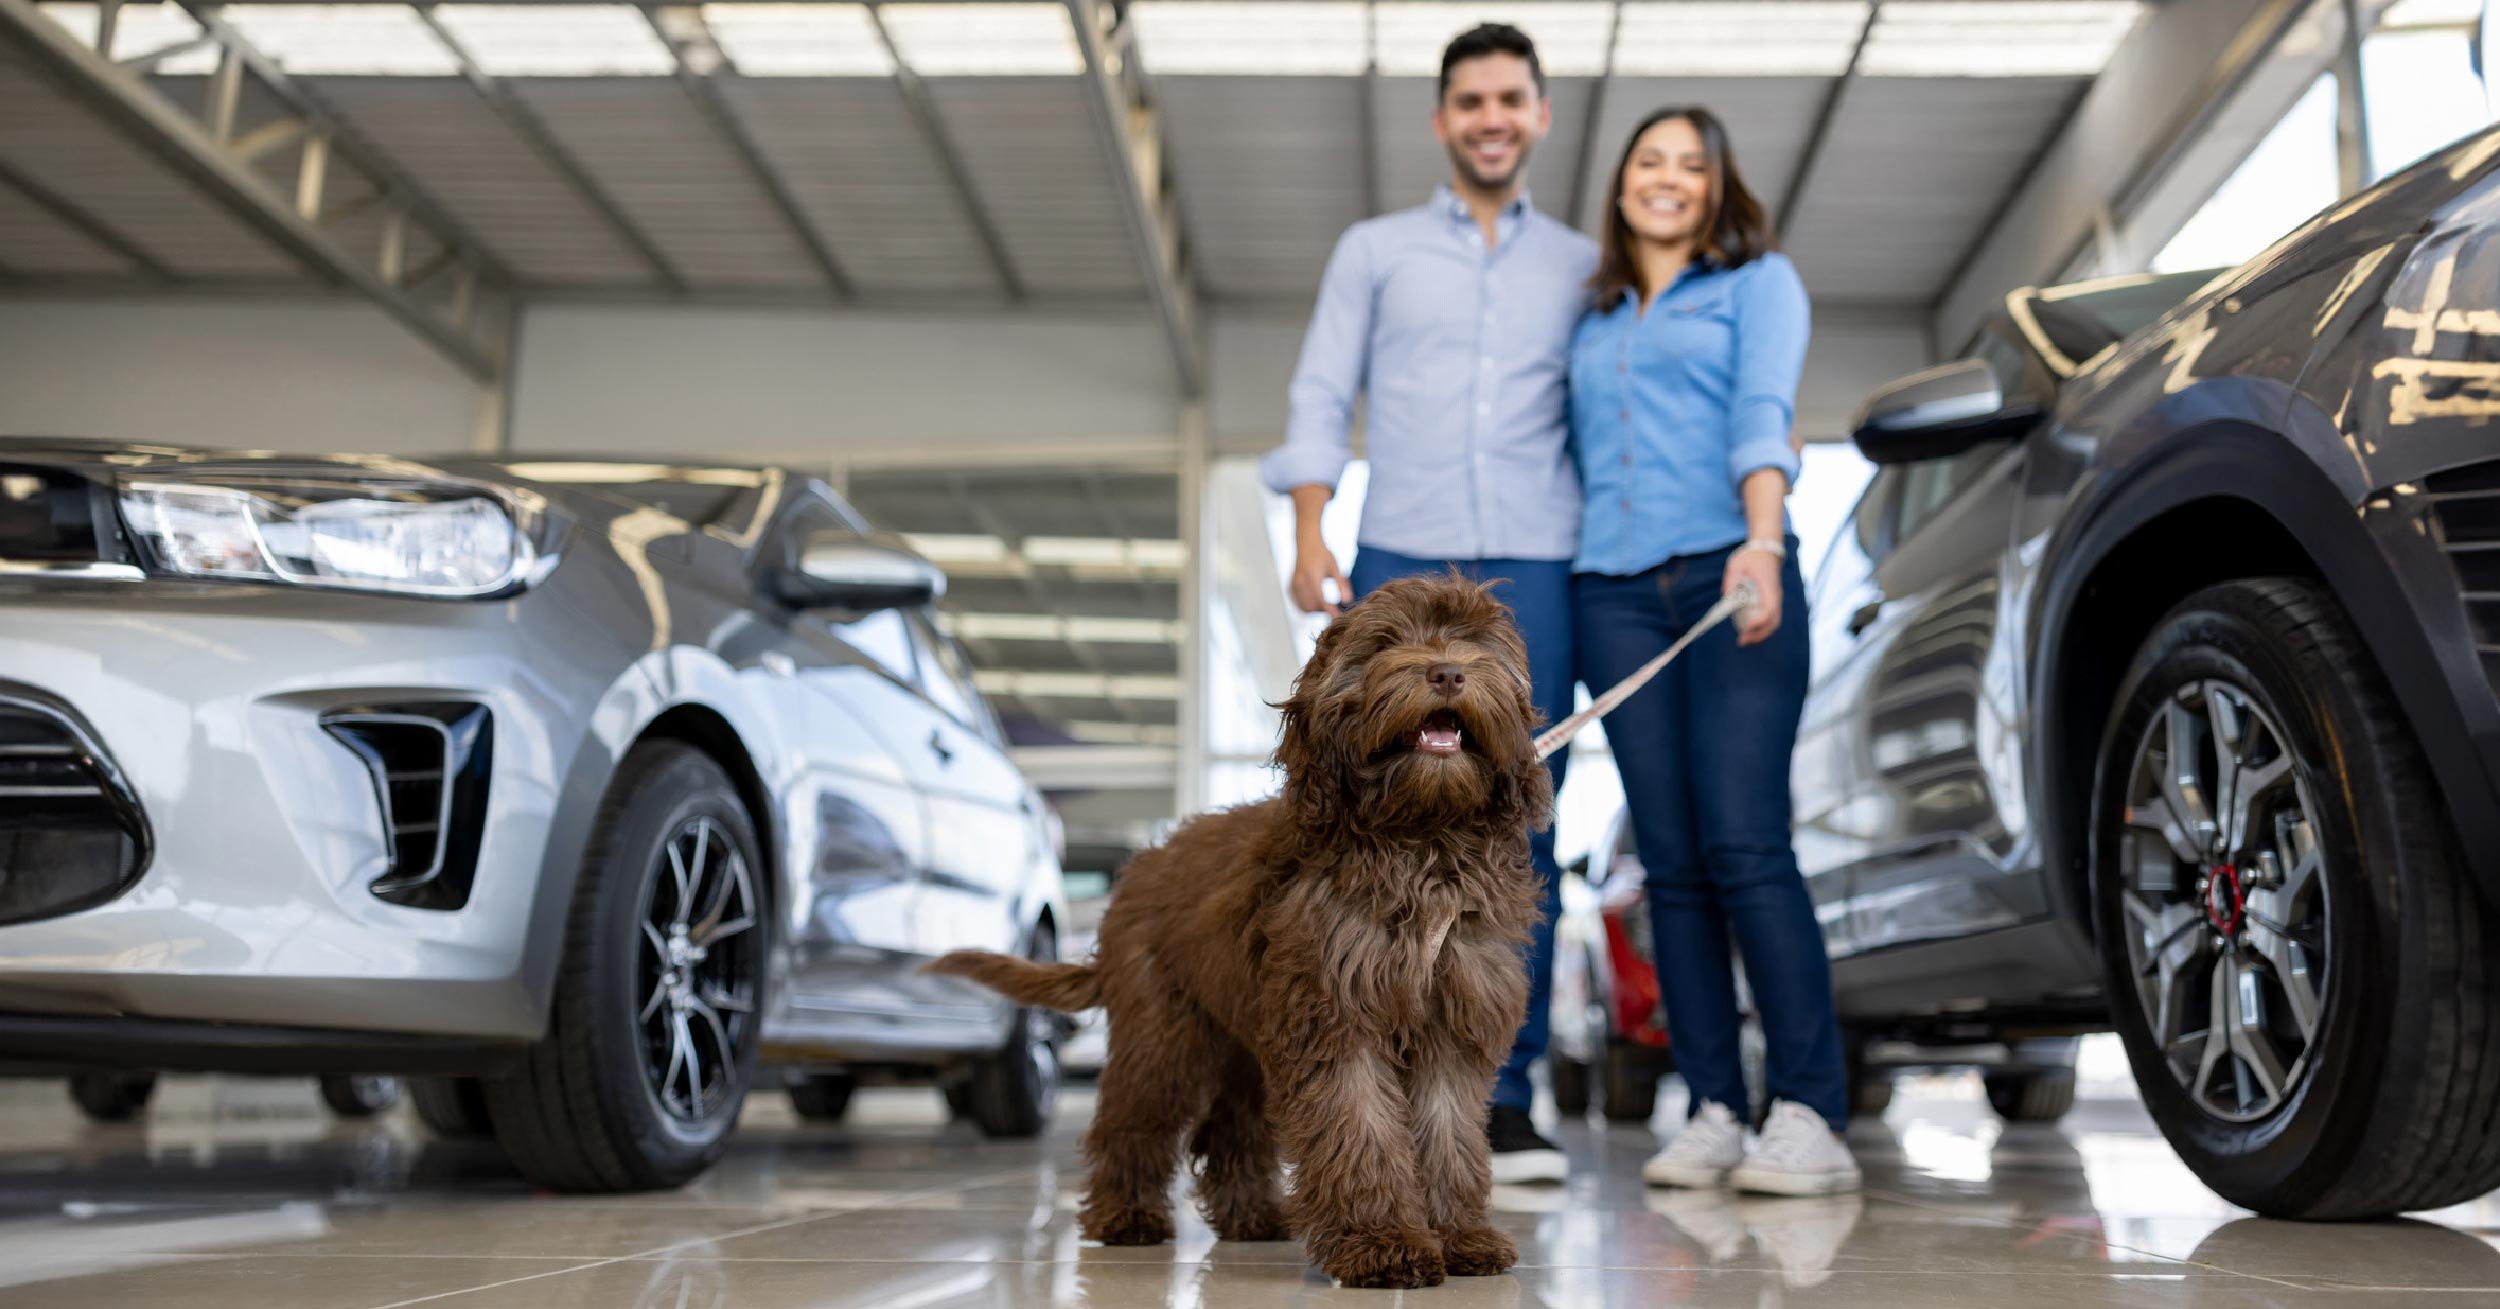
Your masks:
[{"label": "rightmost bright skylight in the row along the ceiling", "polygon": [[2135,0],[1892,0],[1858,70],[1870,77],[2090,77],[2128,40]]}]

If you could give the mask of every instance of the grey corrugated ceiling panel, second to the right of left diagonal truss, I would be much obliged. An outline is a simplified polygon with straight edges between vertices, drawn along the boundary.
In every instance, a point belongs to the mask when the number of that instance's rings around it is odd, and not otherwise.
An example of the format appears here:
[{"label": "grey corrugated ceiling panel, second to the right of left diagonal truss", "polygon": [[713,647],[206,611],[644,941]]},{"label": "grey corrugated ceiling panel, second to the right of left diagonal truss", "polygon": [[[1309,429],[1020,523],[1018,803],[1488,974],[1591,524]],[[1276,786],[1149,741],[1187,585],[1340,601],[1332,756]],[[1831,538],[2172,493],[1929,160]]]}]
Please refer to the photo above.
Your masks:
[{"label": "grey corrugated ceiling panel, second to the right of left diagonal truss", "polygon": [[695,287],[825,285],[772,197],[675,80],[530,77],[515,90]]}]

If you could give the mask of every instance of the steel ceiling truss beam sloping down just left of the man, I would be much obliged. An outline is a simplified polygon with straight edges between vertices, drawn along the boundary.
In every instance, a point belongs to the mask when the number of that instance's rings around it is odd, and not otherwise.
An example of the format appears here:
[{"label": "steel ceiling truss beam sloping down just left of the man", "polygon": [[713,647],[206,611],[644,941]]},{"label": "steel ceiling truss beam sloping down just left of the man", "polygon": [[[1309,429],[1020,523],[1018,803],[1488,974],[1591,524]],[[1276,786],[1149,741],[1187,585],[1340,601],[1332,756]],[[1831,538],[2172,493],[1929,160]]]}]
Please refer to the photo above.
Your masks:
[{"label": "steel ceiling truss beam sloping down just left of the man", "polygon": [[1180,242],[1180,217],[1162,177],[1162,125],[1138,90],[1135,50],[1115,50],[1115,45],[1130,42],[1128,27],[1110,20],[1112,7],[1105,0],[1065,2],[1068,20],[1078,30],[1078,50],[1085,52],[1085,102],[1102,135],[1102,150],[1120,190],[1120,215],[1128,220],[1138,267],[1162,325],[1162,345],[1172,355],[1180,397],[1198,400],[1205,385],[1198,350],[1198,297]]}]

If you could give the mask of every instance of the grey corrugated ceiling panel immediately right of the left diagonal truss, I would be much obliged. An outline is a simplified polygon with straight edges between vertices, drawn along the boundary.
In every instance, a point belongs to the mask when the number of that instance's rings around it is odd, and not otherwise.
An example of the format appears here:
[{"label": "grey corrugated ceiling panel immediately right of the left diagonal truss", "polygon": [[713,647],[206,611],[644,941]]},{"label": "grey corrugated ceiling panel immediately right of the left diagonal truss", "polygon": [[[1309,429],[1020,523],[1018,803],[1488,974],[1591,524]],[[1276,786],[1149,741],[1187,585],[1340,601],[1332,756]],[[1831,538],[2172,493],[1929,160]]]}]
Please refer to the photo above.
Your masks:
[{"label": "grey corrugated ceiling panel immediately right of the left diagonal truss", "polygon": [[652,280],[650,267],[468,82],[322,77],[318,90],[525,282]]}]

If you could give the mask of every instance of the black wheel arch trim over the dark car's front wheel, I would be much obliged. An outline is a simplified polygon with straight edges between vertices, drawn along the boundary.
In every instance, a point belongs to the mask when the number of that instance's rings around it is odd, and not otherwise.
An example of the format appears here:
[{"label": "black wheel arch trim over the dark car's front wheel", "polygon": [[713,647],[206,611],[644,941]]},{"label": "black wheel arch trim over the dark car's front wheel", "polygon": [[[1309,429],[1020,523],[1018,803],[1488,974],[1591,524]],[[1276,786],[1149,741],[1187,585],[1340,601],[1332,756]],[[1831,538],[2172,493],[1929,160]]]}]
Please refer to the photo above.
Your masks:
[{"label": "black wheel arch trim over the dark car's front wheel", "polygon": [[[2090,932],[2085,827],[2110,704],[2152,625],[2200,587],[2258,575],[2318,580],[2355,617],[2425,749],[2440,759],[2432,742],[2455,734],[2445,754],[2470,757],[2452,707],[2442,709],[2448,682],[2435,674],[2430,637],[2412,620],[2395,565],[2338,477],[2295,440],[2242,420],[2182,430],[2090,500],[2088,517],[2060,530],[2065,547],[2045,565],[2032,627],[2032,777],[2045,809],[2035,824],[2068,922]],[[2185,550],[2190,540],[2212,542],[2218,530],[2228,532],[2225,550]],[[2130,582],[2110,585],[2115,577]],[[2452,784],[2455,769],[2435,772]],[[2500,867],[2490,864],[2475,872],[2500,902]]]}]

